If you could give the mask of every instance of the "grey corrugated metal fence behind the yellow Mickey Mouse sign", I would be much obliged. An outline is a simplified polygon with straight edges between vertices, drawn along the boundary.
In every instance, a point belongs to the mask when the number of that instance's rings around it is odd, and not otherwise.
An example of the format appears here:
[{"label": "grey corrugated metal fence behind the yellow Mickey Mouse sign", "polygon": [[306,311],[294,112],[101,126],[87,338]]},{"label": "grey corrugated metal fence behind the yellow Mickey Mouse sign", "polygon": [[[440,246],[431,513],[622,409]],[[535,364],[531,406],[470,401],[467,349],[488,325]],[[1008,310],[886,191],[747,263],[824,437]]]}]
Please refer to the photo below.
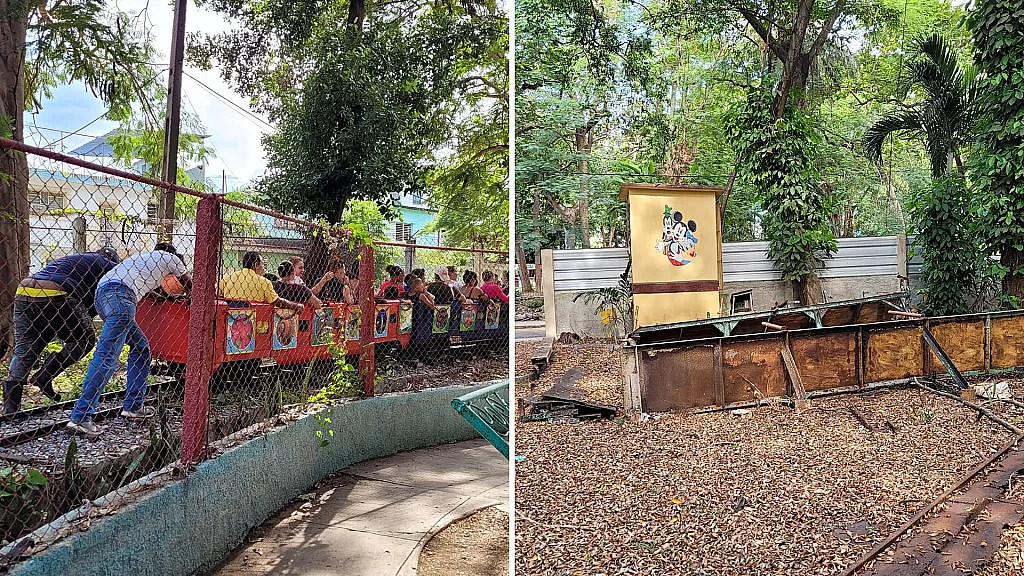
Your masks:
[{"label": "grey corrugated metal fence behind the yellow Mickey Mouse sign", "polygon": [[[825,260],[821,278],[856,276],[896,276],[898,255],[895,236],[841,238],[839,250]],[[626,270],[629,250],[599,248],[593,250],[555,250],[555,291],[593,290],[618,283]],[[920,272],[921,257],[910,262],[910,274]],[[768,259],[767,242],[728,242],[722,245],[722,278],[725,282],[779,280],[775,263]]]}]

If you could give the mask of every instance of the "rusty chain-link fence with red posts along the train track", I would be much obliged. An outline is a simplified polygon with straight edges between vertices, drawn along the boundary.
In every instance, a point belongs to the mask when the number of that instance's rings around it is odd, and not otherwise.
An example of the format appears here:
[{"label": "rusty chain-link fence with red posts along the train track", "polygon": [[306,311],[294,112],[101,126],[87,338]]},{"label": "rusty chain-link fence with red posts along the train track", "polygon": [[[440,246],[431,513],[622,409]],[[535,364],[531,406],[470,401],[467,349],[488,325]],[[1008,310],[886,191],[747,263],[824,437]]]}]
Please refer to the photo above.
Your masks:
[{"label": "rusty chain-link fence with red posts along the train track", "polygon": [[[496,283],[384,278],[411,268],[406,246],[12,140],[0,154],[30,174],[28,203],[0,206],[22,239],[0,254],[7,562],[47,523],[116,507],[117,489],[283,412],[508,375]],[[508,270],[502,251],[428,251],[416,268]]]}]

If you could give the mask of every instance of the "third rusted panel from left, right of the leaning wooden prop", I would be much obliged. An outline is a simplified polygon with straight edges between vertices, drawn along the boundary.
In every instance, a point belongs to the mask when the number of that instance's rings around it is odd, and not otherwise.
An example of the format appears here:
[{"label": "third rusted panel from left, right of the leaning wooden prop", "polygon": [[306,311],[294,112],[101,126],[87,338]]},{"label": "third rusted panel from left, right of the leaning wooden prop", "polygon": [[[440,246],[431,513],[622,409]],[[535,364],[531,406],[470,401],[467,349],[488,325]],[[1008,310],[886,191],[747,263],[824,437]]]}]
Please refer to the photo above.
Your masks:
[{"label": "third rusted panel from left, right of the leaning wooden prop", "polygon": [[857,333],[792,335],[791,347],[804,387],[823,390],[850,386],[857,379]]}]

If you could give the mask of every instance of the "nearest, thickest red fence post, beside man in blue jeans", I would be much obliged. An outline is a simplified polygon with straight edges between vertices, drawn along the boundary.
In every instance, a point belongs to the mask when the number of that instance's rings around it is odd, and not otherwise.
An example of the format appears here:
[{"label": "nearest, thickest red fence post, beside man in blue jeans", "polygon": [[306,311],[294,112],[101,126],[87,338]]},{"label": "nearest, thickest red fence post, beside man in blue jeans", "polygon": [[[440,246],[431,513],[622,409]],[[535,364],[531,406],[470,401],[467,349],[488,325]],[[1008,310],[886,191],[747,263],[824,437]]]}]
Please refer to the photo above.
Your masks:
[{"label": "nearest, thickest red fence post, beside man in blue jeans", "polygon": [[188,360],[185,364],[184,421],[181,430],[182,463],[199,462],[206,452],[220,232],[219,201],[213,198],[200,200],[196,213],[191,303],[188,306]]}]

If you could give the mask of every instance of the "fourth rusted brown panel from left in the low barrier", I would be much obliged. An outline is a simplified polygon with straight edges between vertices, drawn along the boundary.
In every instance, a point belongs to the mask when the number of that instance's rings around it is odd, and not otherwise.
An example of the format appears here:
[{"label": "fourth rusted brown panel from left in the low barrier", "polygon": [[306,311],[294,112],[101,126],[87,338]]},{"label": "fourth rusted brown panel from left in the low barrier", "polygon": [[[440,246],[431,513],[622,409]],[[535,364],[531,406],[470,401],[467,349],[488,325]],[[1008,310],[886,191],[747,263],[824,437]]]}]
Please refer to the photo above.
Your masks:
[{"label": "fourth rusted brown panel from left in the low barrier", "polygon": [[920,376],[924,359],[922,338],[921,326],[865,330],[864,379],[881,382]]}]

